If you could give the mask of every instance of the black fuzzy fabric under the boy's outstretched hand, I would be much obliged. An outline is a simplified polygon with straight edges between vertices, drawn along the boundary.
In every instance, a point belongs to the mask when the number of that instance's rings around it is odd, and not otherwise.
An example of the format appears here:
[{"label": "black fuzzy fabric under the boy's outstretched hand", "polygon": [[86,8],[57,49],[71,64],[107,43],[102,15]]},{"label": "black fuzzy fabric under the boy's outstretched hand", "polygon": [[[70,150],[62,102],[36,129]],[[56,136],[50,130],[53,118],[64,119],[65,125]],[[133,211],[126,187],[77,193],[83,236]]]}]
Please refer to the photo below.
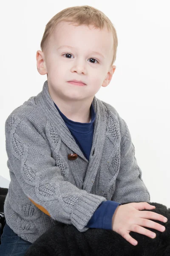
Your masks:
[{"label": "black fuzzy fabric under the boy's outstretched hand", "polygon": [[170,256],[170,209],[158,203],[149,204],[156,206],[153,212],[168,219],[166,223],[155,221],[166,227],[163,233],[147,228],[156,233],[155,239],[130,232],[138,241],[133,246],[112,230],[88,229],[82,233],[73,225],[58,223],[40,236],[25,256]]}]

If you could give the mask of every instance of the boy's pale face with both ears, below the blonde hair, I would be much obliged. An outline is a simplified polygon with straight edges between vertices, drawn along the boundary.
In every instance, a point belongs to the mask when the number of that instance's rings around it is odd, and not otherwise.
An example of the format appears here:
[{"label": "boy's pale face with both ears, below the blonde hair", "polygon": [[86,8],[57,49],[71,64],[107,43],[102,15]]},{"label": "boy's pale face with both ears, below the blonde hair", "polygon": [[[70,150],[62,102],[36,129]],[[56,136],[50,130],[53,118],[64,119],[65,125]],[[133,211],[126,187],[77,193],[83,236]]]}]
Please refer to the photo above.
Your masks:
[{"label": "boy's pale face with both ears, below the blonde hair", "polygon": [[[60,22],[48,41],[47,49],[37,51],[37,70],[41,75],[47,74],[53,100],[58,95],[68,101],[92,101],[100,87],[106,87],[111,81],[116,69],[116,66],[111,66],[112,58],[113,36],[106,28],[100,31],[93,26]],[[68,83],[70,80],[81,80],[86,85]]]}]

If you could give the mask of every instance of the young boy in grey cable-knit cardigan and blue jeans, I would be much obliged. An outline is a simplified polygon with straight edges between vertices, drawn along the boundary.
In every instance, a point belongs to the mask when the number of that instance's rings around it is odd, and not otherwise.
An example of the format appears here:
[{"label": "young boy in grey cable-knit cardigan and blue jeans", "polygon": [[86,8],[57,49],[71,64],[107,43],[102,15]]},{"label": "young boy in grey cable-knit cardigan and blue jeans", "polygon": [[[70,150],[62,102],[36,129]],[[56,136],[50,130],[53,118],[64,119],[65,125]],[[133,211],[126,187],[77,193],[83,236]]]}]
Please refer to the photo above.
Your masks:
[{"label": "young boy in grey cable-knit cardigan and blue jeans", "polygon": [[11,182],[4,232],[12,230],[25,243],[24,253],[55,221],[80,232],[111,229],[131,244],[130,231],[150,237],[144,227],[162,231],[146,219],[164,216],[140,211],[154,207],[127,124],[95,96],[116,69],[113,24],[91,6],[64,9],[46,25],[41,49],[37,70],[47,81],[6,120]]}]

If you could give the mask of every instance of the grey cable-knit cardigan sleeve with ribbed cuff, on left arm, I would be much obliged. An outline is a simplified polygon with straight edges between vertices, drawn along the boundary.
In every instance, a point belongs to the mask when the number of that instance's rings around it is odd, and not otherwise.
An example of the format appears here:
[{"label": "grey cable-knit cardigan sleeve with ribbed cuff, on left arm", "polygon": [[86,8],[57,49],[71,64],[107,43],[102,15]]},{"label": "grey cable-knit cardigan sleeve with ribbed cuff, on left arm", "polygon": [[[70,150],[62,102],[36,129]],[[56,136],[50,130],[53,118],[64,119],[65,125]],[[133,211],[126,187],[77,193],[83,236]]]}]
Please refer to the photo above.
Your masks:
[{"label": "grey cable-knit cardigan sleeve with ribbed cuff, on left arm", "polygon": [[11,113],[6,119],[5,133],[7,165],[23,193],[44,207],[54,220],[73,224],[80,232],[88,230],[88,221],[106,198],[64,180],[47,138],[31,121]]}]

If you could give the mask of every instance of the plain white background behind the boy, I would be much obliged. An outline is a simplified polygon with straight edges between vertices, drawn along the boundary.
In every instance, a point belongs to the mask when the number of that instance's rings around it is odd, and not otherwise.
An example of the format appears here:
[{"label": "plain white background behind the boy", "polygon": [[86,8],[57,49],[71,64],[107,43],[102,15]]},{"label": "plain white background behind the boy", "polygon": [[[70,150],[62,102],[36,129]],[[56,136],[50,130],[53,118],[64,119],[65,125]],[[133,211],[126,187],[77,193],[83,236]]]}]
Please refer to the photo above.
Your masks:
[{"label": "plain white background behind the boy", "polygon": [[[61,3],[62,2],[62,3]],[[8,115],[41,90],[37,71],[45,25],[57,12],[90,5],[107,15],[118,36],[116,71],[96,97],[125,119],[150,201],[170,207],[170,1],[3,1],[0,6],[0,175],[10,181],[5,147]],[[8,187],[0,179],[1,187]]]}]

